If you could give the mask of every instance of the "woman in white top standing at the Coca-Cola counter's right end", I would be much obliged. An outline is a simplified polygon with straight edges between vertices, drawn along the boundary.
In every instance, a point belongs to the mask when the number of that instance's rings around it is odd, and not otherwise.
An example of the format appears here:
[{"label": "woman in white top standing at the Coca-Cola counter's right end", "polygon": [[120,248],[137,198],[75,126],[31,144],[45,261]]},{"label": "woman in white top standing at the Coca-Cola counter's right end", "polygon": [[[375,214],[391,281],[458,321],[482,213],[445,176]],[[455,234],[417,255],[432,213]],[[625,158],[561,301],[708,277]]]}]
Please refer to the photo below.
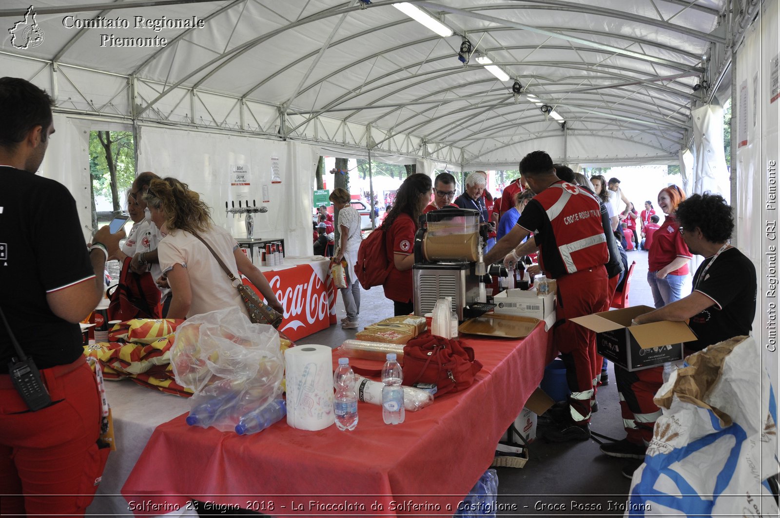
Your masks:
[{"label": "woman in white top standing at the Coca-Cola counter's right end", "polygon": [[357,314],[360,313],[360,282],[355,275],[357,264],[357,249],[360,248],[360,213],[350,203],[349,193],[341,187],[336,187],[330,200],[339,209],[339,244],[336,247],[334,262],[346,261],[346,288],[341,289],[344,297],[346,318],[342,318],[342,328],[356,329]]}]

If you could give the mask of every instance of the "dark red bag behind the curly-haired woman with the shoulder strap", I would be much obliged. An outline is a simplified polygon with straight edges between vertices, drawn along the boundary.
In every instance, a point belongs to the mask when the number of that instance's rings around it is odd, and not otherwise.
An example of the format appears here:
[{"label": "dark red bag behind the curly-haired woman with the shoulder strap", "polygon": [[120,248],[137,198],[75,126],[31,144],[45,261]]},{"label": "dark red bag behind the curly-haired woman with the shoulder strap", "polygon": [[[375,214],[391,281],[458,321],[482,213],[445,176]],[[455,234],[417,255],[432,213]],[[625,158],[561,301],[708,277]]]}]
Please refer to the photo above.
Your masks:
[{"label": "dark red bag behind the curly-haired woman with the shoulder strap", "polygon": [[160,290],[151,273],[130,271],[132,257],[126,257],[119,273],[119,284],[109,289],[108,320],[127,321],[133,318],[161,318]]}]

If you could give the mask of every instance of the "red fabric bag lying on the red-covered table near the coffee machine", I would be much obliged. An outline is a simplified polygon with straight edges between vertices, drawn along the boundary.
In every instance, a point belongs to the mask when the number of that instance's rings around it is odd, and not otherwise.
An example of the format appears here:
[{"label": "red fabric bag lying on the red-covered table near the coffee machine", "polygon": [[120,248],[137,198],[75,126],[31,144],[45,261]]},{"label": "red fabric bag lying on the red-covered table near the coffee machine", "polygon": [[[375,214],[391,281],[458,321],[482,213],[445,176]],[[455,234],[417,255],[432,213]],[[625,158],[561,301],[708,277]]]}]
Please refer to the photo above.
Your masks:
[{"label": "red fabric bag lying on the red-covered table near the coffee machine", "polygon": [[474,359],[474,349],[458,340],[424,334],[411,339],[403,348],[404,385],[434,383],[434,396],[468,389],[482,368]]}]

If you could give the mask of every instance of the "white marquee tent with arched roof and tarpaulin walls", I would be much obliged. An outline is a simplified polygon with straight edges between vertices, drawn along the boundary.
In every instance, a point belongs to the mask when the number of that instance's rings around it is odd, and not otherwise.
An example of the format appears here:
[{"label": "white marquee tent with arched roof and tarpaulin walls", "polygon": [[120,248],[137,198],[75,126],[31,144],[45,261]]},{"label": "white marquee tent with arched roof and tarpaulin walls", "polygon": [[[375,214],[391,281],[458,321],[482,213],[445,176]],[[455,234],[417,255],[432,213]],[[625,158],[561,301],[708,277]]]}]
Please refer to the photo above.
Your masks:
[{"label": "white marquee tent with arched roof and tarpaulin walls", "polygon": [[[319,154],[371,150],[431,172],[513,169],[535,149],[572,165],[690,152],[687,188],[704,190],[728,174],[711,121],[732,98],[739,246],[765,262],[778,0],[407,2],[447,37],[397,0],[82,2],[2,2],[0,66],[53,94],[58,133],[41,173],[66,183],[84,215],[98,128],[133,130],[140,170],[185,179],[212,207],[267,204],[256,227],[301,254]],[[249,186],[230,185],[236,165]]]}]

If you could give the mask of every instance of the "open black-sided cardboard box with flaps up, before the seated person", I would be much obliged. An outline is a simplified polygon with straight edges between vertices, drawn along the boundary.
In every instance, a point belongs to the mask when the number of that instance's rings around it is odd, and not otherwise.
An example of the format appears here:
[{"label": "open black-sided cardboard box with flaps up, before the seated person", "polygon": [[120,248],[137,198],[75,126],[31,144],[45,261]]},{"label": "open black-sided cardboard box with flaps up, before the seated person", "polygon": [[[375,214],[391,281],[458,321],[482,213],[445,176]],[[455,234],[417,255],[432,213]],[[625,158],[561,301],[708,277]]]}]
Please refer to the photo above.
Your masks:
[{"label": "open black-sided cardboard box with flaps up, before the seated person", "polygon": [[683,342],[697,339],[685,322],[631,325],[633,318],[652,310],[633,306],[570,320],[596,332],[596,349],[601,356],[629,371],[641,371],[682,360]]}]

